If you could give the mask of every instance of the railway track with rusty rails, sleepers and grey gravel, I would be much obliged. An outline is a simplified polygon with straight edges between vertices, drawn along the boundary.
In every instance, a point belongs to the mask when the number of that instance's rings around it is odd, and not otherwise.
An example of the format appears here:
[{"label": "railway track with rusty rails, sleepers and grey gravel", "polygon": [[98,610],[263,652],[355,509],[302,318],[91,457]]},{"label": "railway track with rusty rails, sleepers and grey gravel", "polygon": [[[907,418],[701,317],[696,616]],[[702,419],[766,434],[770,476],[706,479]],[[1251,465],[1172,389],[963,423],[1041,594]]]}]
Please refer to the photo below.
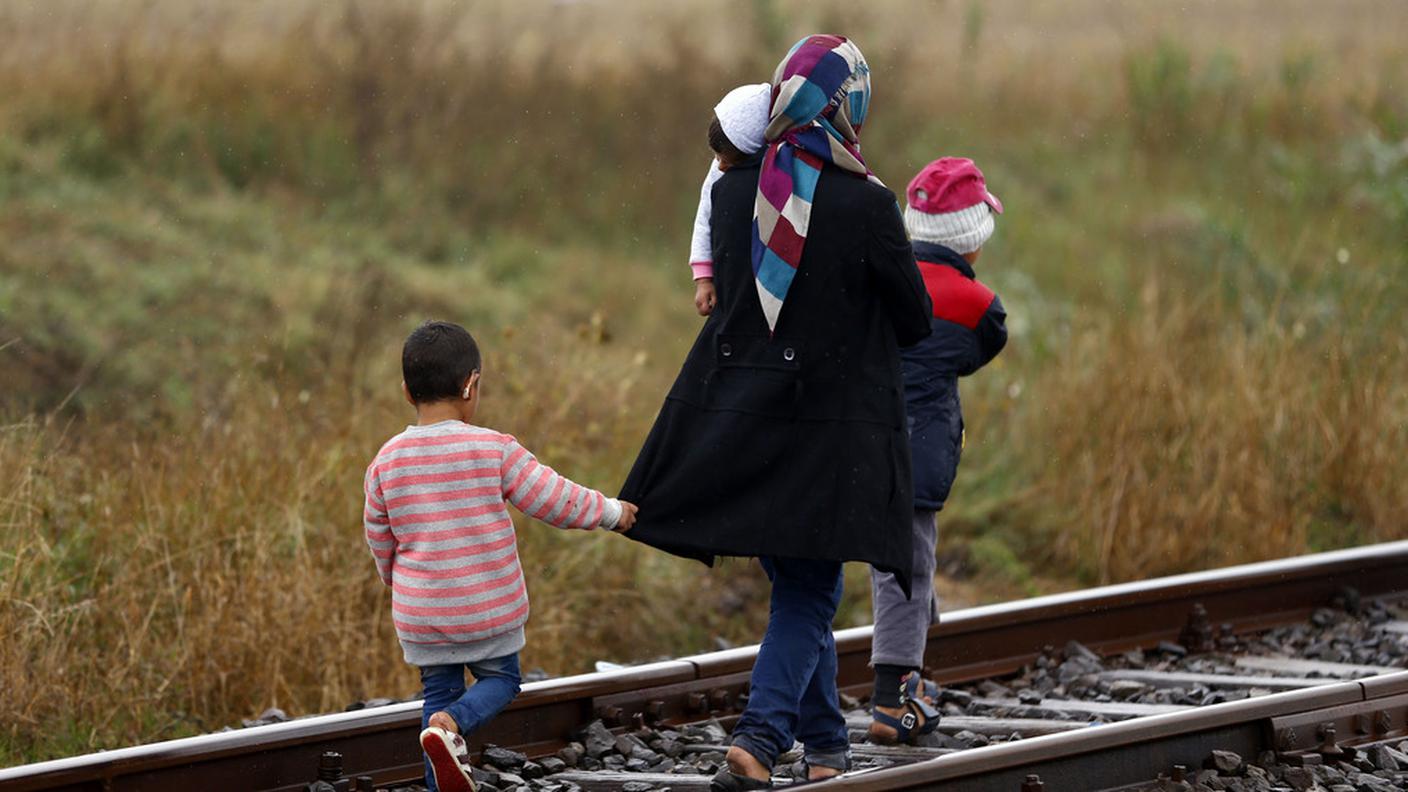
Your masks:
[{"label": "railway track with rusty rails, sleepers and grey gravel", "polygon": [[[1408,736],[1408,672],[1394,672],[1408,650],[1405,596],[1408,541],[948,613],[925,669],[943,685],[941,736],[919,748],[857,744],[857,769],[828,788],[1190,789],[1214,750],[1302,768],[1297,778],[1336,762],[1363,769],[1376,747],[1383,764]],[[863,695],[869,629],[836,633],[836,645],[843,693]],[[563,754],[577,767],[553,757],[525,769],[510,755],[486,778],[507,789],[558,769],[524,784],[704,789],[755,651],[525,685],[472,748],[542,760],[600,722],[594,757],[584,745]],[[862,712],[850,713],[857,730]],[[418,729],[410,702],[0,769],[0,789],[301,791],[329,753],[341,755],[324,767],[335,788],[396,788],[420,776]],[[1247,772],[1246,786],[1207,788],[1278,788]]]}]

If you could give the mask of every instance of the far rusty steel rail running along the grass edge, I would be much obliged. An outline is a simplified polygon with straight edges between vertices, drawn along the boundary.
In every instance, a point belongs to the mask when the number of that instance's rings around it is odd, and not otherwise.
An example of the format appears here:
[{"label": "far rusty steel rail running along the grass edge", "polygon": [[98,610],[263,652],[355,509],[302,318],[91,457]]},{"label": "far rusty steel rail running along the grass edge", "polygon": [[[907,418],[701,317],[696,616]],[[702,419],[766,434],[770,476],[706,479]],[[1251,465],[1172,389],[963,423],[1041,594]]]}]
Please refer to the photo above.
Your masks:
[{"label": "far rusty steel rail running along the grass edge", "polygon": [[[1150,647],[1176,640],[1194,605],[1202,605],[1215,624],[1232,631],[1266,629],[1304,619],[1346,586],[1363,596],[1408,589],[1408,541],[946,613],[929,634],[928,672],[942,682],[1007,674],[1045,647],[1069,640],[1100,652]],[[865,689],[870,627],[838,631],[836,647],[842,686]],[[746,693],[756,651],[743,647],[529,683],[474,734],[474,744],[541,754],[593,717],[612,726],[727,717],[736,713],[738,698]],[[1328,695],[1321,691],[1304,695],[1307,700]],[[370,775],[377,784],[391,784],[420,775],[418,730],[420,703],[407,702],[0,769],[0,789],[291,792],[314,776],[322,751],[341,753],[348,776]]]}]

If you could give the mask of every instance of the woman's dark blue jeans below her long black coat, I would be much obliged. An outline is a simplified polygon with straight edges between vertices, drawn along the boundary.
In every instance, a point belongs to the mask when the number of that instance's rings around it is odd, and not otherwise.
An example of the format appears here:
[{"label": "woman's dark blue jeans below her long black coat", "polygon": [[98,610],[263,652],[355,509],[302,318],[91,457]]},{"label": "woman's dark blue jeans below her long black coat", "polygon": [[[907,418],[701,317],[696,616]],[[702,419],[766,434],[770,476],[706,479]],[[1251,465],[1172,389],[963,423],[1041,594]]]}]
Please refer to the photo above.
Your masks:
[{"label": "woman's dark blue jeans below her long black coat", "polygon": [[734,744],[772,767],[798,740],[811,767],[848,769],[850,741],[836,700],[831,634],[841,605],[841,562],[760,561],[773,581],[772,610]]}]

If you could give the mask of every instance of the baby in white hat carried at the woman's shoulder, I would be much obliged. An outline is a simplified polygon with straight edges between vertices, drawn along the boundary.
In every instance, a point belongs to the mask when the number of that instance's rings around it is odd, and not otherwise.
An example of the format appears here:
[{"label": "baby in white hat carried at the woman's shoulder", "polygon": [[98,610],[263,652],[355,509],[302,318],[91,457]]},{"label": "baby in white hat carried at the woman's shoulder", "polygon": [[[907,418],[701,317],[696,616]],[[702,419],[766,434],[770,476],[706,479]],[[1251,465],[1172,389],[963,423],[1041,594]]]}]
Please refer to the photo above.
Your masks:
[{"label": "baby in white hat carried at the woman's shoulder", "polygon": [[690,238],[690,269],[694,271],[694,307],[700,316],[714,310],[714,251],[710,237],[714,183],[724,171],[739,165],[763,149],[763,130],[772,109],[772,83],[738,86],[714,106],[714,120],[708,128],[708,145],[714,149],[704,186],[700,187],[700,207],[694,213],[694,234]]}]

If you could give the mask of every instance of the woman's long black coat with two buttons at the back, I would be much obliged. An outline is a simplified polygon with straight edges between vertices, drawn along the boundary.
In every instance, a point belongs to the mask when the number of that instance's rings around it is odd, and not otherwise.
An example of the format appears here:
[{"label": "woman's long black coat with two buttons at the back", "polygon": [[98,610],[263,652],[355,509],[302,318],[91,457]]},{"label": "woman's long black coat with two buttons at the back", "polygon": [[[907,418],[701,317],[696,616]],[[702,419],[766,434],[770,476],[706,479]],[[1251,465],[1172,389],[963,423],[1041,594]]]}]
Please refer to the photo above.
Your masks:
[{"label": "woman's long black coat with two buttons at the back", "polygon": [[714,186],[714,287],[621,497],[628,534],[715,555],[866,561],[908,589],[912,479],[900,345],[929,296],[890,190],[825,168],[776,334],[749,256],[756,165]]}]

